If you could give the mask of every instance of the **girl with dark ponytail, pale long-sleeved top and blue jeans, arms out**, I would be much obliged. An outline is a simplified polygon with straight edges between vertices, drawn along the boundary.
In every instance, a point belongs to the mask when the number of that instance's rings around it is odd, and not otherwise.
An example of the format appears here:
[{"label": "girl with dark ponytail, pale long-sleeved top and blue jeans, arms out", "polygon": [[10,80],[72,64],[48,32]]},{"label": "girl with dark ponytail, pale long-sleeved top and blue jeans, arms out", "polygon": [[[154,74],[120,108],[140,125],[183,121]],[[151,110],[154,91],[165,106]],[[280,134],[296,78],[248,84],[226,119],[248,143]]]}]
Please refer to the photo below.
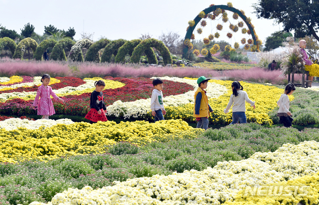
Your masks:
[{"label": "girl with dark ponytail, pale long-sleeved top and blue jeans, arms out", "polygon": [[231,89],[233,90],[233,94],[230,96],[229,103],[224,112],[228,113],[231,105],[233,105],[233,121],[230,124],[236,124],[238,121],[240,123],[247,123],[245,101],[250,103],[254,109],[256,108],[255,102],[248,98],[247,93],[243,91],[244,88],[238,81],[234,81],[231,84]]}]

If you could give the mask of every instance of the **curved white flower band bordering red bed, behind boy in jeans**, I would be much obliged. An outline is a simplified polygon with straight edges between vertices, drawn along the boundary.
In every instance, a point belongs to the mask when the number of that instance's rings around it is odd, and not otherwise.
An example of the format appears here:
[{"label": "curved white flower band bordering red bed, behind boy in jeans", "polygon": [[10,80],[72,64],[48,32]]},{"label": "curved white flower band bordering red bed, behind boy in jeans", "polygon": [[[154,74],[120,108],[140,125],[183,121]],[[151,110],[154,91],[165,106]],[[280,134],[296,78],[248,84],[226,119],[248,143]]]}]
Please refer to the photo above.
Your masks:
[{"label": "curved white flower band bordering red bed, behind boy in jeans", "polygon": [[[154,79],[155,77],[151,78]],[[163,99],[164,106],[179,106],[187,103],[194,103],[194,94],[198,88],[198,84],[196,80],[189,80],[177,77],[161,77],[161,80],[174,81],[179,83],[187,83],[189,85],[194,86],[193,91],[188,91],[184,94],[175,95],[175,96],[167,96]],[[165,85],[164,85],[165,89]],[[219,96],[225,94],[227,89],[225,86],[216,84],[216,83],[207,83],[207,97],[218,98]],[[165,90],[163,90],[165,92]],[[151,96],[150,96],[151,97]],[[113,104],[107,107],[107,115],[114,115],[116,117],[124,116],[124,118],[130,117],[138,117],[147,114],[150,110],[151,98],[137,100],[134,102],[125,102],[116,101]]]}]

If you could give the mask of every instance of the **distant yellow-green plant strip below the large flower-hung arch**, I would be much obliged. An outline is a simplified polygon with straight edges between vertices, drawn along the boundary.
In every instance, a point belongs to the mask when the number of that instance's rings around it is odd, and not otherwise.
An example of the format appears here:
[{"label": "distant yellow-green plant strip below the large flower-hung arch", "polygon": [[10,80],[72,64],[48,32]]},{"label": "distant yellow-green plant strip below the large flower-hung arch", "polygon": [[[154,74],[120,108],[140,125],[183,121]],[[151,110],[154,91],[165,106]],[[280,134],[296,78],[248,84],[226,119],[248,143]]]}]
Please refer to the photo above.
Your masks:
[{"label": "distant yellow-green plant strip below the large flower-hung arch", "polygon": [[237,64],[237,63],[223,63],[223,62],[202,62],[195,63],[193,67],[205,68],[209,70],[248,70],[252,67],[255,67],[255,64]]}]

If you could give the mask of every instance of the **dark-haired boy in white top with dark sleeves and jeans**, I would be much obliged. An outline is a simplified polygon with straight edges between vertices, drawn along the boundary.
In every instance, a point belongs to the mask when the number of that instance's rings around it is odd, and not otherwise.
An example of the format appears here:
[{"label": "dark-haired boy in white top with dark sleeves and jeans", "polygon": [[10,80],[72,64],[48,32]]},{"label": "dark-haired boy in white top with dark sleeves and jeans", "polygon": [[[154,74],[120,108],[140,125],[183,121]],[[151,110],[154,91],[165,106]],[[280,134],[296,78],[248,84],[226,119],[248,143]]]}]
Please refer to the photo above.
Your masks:
[{"label": "dark-haired boy in white top with dark sleeves and jeans", "polygon": [[155,116],[155,121],[164,120],[164,116],[166,114],[166,110],[163,105],[163,81],[160,78],[156,78],[153,80],[154,90],[152,92],[151,98],[151,109],[152,115]]}]

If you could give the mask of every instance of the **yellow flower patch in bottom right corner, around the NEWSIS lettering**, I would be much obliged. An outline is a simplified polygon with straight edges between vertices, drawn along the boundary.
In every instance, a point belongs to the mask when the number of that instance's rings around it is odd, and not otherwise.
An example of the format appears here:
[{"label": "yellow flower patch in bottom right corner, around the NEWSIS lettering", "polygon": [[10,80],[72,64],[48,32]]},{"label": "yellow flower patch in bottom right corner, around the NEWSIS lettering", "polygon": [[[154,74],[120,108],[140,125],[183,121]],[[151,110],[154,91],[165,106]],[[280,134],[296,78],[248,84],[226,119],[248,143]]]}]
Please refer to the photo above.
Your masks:
[{"label": "yellow flower patch in bottom right corner, around the NEWSIS lettering", "polygon": [[[302,201],[305,201],[306,205],[317,205],[319,203],[318,175],[319,173],[287,182],[269,184],[261,192],[261,195],[266,196],[260,196],[257,194],[258,191],[252,191],[253,196],[252,193],[243,189],[235,196],[235,201],[225,202],[224,205],[297,205]],[[253,189],[254,187],[251,187],[251,190]]]}]

